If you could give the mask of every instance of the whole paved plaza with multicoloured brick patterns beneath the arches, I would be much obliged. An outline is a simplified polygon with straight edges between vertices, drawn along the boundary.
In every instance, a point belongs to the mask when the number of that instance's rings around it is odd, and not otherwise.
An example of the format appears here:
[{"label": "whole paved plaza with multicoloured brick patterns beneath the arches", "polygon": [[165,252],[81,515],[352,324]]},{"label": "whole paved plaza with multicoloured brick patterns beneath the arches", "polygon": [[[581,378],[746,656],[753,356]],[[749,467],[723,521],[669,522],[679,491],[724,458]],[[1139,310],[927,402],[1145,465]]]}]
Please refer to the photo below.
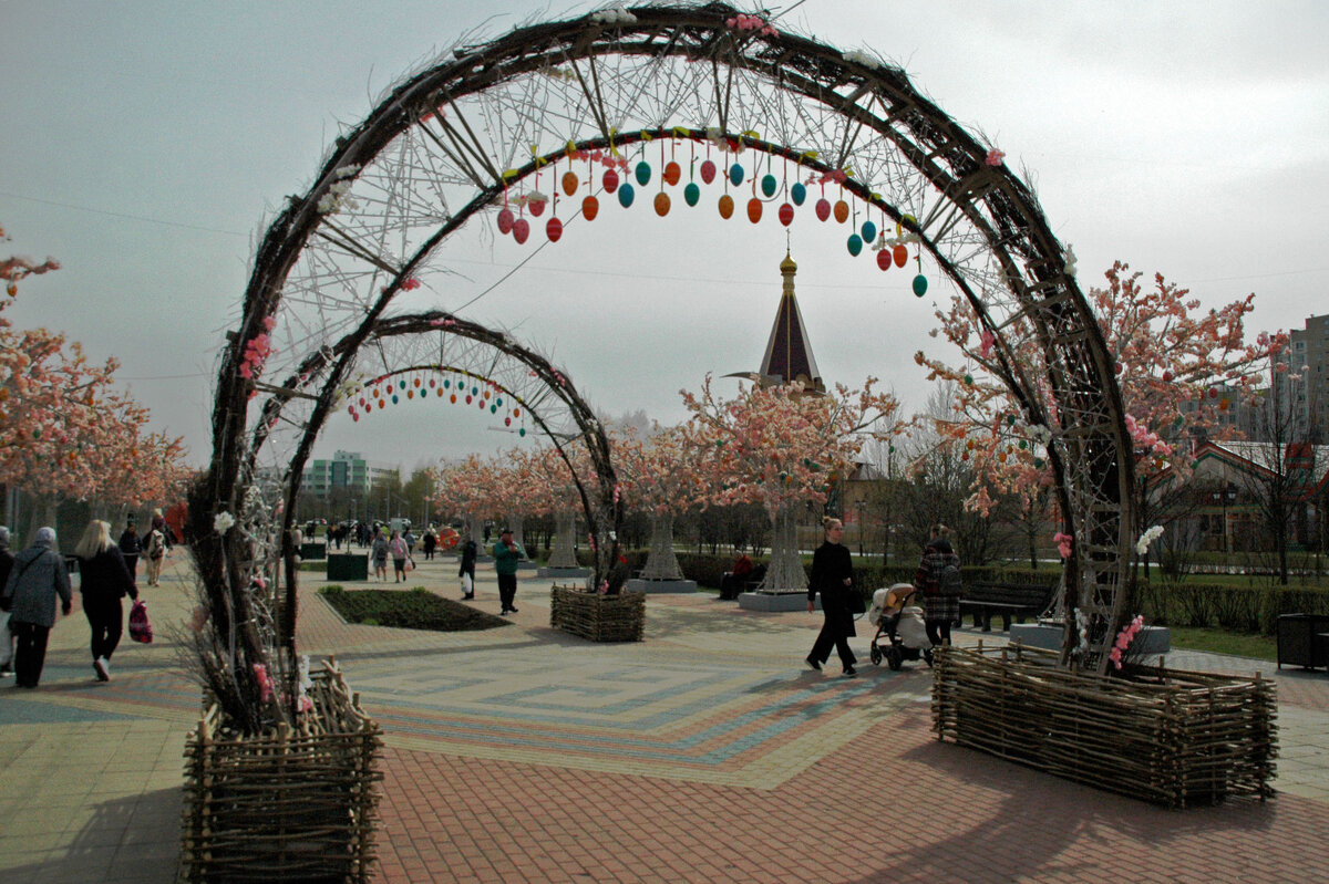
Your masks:
[{"label": "whole paved plaza with multicoloured brick patterns beneath the arches", "polygon": [[[420,564],[408,585],[460,595],[455,559]],[[650,596],[646,641],[593,645],[549,628],[548,580],[522,577],[513,625],[440,634],[347,625],[303,576],[302,648],[387,737],[379,881],[1329,880],[1325,673],[1171,654],[1276,678],[1281,737],[1275,800],[1175,812],[936,742],[926,666],[873,666],[863,623],[844,680],[803,666],[820,615],[710,593]],[[126,636],[110,684],[78,611],[41,689],[0,682],[5,884],[174,880],[187,585],[173,560],[158,641]],[[498,612],[489,567],[474,604]],[[1002,640],[957,640],[979,638]]]}]

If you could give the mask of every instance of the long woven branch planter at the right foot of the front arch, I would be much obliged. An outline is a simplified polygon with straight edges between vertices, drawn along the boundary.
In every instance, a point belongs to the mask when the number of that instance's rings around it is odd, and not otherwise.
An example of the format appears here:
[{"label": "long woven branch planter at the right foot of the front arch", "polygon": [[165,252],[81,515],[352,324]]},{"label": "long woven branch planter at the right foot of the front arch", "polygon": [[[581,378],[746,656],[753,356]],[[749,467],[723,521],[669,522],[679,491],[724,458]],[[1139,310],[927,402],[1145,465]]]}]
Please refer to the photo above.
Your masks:
[{"label": "long woven branch planter at the right foot of the front arch", "polygon": [[1138,668],[1062,669],[1027,648],[948,648],[933,669],[938,739],[1167,807],[1273,795],[1275,685]]}]

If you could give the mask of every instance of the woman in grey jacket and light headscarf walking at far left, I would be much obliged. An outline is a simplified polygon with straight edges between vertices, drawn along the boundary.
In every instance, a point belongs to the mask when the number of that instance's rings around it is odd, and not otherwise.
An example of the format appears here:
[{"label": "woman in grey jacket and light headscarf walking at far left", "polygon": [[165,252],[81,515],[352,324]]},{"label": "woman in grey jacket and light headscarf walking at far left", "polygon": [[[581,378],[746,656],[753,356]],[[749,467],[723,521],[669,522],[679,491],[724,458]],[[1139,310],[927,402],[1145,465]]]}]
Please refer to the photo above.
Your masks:
[{"label": "woman in grey jacket and light headscarf walking at far left", "polygon": [[39,528],[32,546],[13,559],[13,569],[0,592],[0,607],[9,611],[13,630],[15,682],[36,688],[47,662],[47,640],[56,625],[56,596],[60,611],[68,617],[73,609],[69,572],[56,551],[56,530]]}]

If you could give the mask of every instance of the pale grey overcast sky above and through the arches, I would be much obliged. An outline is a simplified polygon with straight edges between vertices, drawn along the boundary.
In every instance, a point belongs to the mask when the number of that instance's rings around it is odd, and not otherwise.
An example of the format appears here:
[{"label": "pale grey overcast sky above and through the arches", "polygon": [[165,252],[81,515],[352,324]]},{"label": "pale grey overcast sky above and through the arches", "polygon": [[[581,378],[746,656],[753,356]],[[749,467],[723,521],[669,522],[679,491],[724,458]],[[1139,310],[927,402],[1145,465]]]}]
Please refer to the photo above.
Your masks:
[{"label": "pale grey overcast sky above and through the arches", "polygon": [[[12,236],[0,248],[64,264],[28,280],[11,317],[120,358],[154,429],[206,463],[217,350],[254,242],[271,208],[308,187],[339,123],[464,32],[496,37],[589,8],[0,0],[0,224]],[[870,46],[1027,169],[1082,288],[1122,259],[1205,305],[1255,292],[1252,334],[1329,312],[1329,4],[805,0],[779,24]],[[785,247],[776,223],[690,211],[659,219],[643,203],[622,224],[569,230],[466,315],[553,352],[598,409],[674,422],[680,388],[756,368]],[[926,336],[933,292],[916,300],[906,275],[851,259],[831,227],[792,228],[821,373],[849,386],[877,376],[921,409],[913,353],[944,352]],[[505,242],[474,251],[440,307],[522,256]],[[411,469],[516,442],[478,413],[403,409],[334,421],[316,457],[344,447]]]}]

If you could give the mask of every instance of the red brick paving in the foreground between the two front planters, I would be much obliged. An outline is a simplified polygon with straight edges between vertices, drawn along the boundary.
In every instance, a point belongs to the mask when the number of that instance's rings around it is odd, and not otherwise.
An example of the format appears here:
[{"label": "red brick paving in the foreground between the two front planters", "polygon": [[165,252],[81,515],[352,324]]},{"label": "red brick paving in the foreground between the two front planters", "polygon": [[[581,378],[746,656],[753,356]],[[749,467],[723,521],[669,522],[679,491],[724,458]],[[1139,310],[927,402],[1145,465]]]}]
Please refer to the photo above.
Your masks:
[{"label": "red brick paving in the foreground between the two front planters", "polygon": [[1329,881],[1329,806],[1167,811],[936,742],[918,703],[775,790],[389,749],[377,881]]}]

